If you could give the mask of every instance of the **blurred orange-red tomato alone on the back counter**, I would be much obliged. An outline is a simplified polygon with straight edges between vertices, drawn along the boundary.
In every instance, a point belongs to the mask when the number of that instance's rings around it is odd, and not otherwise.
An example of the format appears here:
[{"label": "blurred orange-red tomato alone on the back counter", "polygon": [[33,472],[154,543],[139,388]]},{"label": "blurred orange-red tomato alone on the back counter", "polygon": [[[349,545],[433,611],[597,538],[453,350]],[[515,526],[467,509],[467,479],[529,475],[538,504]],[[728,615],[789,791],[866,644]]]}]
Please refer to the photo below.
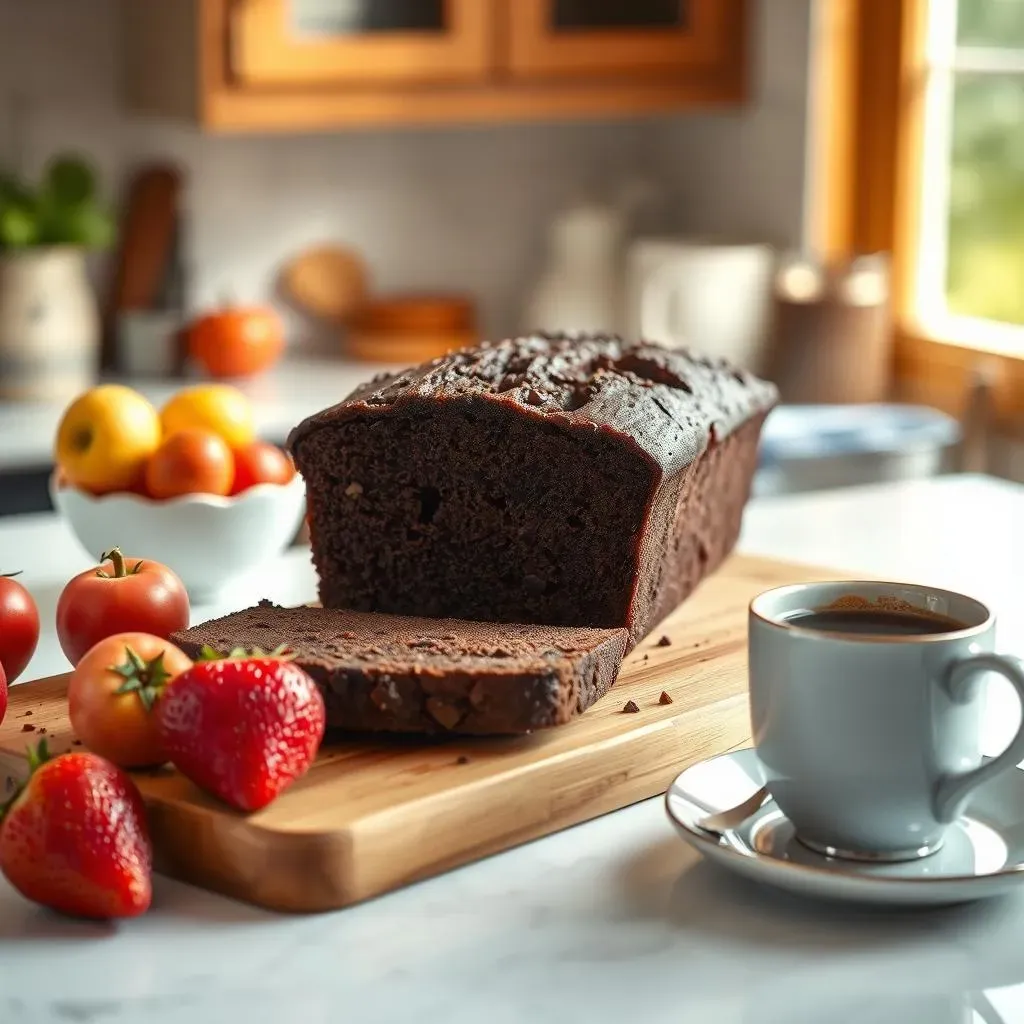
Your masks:
[{"label": "blurred orange-red tomato alone on the back counter", "polygon": [[285,326],[268,306],[228,306],[196,321],[187,341],[211,377],[252,377],[281,357]]}]

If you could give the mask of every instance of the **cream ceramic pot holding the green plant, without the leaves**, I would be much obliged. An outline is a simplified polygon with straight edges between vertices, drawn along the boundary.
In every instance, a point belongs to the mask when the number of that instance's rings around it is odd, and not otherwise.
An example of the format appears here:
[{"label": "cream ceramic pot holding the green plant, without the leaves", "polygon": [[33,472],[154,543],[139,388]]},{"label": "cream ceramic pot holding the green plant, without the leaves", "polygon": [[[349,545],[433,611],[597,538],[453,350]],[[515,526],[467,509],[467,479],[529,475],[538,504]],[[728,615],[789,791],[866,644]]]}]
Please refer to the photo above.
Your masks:
[{"label": "cream ceramic pot holding the green plant, without the leaves", "polygon": [[91,387],[99,311],[72,247],[0,256],[0,398],[67,400]]}]

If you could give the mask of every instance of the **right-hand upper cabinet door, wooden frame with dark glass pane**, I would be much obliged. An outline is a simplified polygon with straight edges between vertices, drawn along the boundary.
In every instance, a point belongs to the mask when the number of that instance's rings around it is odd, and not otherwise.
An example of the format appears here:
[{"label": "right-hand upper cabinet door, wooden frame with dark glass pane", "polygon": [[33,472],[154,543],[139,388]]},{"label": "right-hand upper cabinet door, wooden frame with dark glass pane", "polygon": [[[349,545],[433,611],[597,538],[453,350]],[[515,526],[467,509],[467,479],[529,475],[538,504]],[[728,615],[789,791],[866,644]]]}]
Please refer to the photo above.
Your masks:
[{"label": "right-hand upper cabinet door, wooden frame with dark glass pane", "polygon": [[742,45],[744,0],[507,0],[505,11],[521,78],[682,76]]}]

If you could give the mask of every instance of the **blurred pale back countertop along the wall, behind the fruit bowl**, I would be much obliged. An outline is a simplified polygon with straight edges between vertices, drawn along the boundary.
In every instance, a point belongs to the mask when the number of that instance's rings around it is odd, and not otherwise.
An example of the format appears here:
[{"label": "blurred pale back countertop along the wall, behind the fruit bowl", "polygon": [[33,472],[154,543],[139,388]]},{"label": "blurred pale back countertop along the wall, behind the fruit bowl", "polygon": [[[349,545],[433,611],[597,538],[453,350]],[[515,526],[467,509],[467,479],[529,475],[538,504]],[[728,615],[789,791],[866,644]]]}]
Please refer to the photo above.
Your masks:
[{"label": "blurred pale back countertop along the wall, behind the fruit bowl", "polygon": [[[253,399],[261,437],[283,441],[300,420],[340,401],[361,381],[394,366],[289,356],[261,377],[232,382]],[[114,380],[116,378],[112,378]],[[124,380],[158,408],[179,388],[198,380]],[[53,438],[67,403],[0,401],[0,472],[39,469],[52,462]]]}]

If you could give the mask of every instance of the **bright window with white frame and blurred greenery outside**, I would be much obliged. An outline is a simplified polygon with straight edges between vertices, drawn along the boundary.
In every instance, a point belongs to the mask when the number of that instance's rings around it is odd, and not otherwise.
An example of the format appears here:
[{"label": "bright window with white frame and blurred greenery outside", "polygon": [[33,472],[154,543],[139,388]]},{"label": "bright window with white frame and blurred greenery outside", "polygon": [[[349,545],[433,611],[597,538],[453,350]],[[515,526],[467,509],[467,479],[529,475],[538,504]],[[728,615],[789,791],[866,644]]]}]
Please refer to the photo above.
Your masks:
[{"label": "bright window with white frame and blurred greenery outside", "polygon": [[929,0],[924,45],[913,311],[1024,351],[1024,0]]}]

